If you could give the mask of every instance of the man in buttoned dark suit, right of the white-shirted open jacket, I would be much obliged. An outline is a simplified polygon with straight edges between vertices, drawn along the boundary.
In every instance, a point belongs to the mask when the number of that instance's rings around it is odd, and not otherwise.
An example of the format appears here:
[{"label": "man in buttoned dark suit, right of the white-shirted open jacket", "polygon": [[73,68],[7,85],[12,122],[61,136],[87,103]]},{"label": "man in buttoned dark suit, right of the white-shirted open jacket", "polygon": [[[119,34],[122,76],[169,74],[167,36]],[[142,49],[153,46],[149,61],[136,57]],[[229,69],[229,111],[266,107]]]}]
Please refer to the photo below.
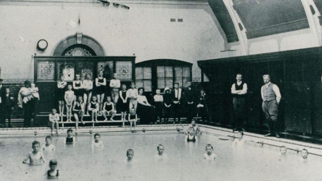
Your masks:
[{"label": "man in buttoned dark suit, right of the white-shirted open jacket", "polygon": [[195,115],[195,103],[196,103],[196,96],[195,91],[192,88],[192,82],[187,82],[187,87],[184,89],[184,98],[185,98],[185,106],[187,111],[187,122],[190,124],[191,120],[194,118]]}]

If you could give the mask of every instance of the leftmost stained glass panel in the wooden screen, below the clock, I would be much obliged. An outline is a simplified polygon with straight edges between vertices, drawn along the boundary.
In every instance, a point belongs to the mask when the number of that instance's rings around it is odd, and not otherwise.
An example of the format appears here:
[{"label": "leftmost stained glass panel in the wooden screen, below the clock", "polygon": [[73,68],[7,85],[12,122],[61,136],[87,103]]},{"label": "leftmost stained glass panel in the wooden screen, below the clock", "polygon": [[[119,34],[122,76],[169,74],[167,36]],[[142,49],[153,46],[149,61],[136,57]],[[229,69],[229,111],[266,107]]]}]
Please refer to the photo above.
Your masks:
[{"label": "leftmost stained glass panel in the wooden screen, below the clock", "polygon": [[55,62],[53,61],[37,61],[37,80],[38,81],[54,81]]}]

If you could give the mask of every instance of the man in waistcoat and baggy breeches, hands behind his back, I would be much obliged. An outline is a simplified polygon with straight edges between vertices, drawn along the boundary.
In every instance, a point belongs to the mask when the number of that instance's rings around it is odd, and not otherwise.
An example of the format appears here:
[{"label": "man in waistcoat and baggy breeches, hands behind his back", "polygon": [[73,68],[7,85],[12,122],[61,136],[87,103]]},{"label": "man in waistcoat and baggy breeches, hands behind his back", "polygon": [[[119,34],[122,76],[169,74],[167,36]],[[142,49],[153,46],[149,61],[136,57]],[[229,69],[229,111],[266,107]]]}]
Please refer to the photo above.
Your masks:
[{"label": "man in waistcoat and baggy breeches, hands behind his back", "polygon": [[279,138],[280,123],[278,117],[278,104],[281,100],[281,94],[277,85],[270,82],[269,75],[263,75],[265,85],[260,89],[261,97],[263,100],[262,109],[268,122],[270,133],[264,136],[276,136]]}]

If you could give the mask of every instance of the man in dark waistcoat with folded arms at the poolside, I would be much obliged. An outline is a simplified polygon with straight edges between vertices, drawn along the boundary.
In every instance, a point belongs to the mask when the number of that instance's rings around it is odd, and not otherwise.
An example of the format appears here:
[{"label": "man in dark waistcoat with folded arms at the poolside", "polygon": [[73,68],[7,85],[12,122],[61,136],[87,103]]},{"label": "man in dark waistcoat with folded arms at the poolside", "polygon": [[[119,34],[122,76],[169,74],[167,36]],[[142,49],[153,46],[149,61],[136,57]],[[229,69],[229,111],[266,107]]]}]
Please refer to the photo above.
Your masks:
[{"label": "man in dark waistcoat with folded arms at the poolside", "polygon": [[236,128],[232,131],[245,131],[243,122],[245,117],[245,97],[247,93],[247,84],[242,81],[242,74],[236,75],[236,82],[232,84],[232,105],[234,107],[234,120]]}]

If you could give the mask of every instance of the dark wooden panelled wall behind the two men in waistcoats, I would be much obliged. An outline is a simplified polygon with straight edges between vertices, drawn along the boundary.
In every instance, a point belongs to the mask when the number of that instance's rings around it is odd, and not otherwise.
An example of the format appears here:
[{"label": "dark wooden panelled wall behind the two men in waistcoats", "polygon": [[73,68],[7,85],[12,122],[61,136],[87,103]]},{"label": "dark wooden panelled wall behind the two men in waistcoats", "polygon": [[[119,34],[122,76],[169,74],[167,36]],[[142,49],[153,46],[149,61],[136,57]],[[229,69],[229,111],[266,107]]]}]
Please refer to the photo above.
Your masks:
[{"label": "dark wooden panelled wall behind the two men in waistcoats", "polygon": [[262,76],[269,74],[281,92],[279,121],[286,131],[322,135],[322,48],[264,53],[240,57],[198,61],[208,75],[208,92],[213,100],[213,119],[233,125],[230,88],[236,73],[243,74],[248,85],[247,119],[249,128],[266,124],[261,109]]}]

